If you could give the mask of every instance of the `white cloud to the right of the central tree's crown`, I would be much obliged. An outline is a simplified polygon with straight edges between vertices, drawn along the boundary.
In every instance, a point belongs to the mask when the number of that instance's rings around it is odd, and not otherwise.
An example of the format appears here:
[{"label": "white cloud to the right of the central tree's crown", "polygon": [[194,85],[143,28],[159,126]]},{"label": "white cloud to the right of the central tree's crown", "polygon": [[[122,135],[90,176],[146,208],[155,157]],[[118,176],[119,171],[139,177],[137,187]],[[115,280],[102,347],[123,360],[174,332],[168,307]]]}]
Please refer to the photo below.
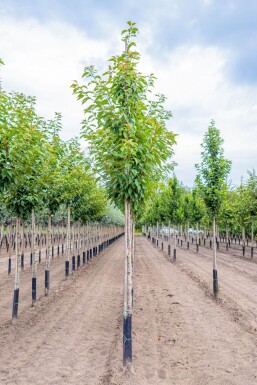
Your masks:
[{"label": "white cloud to the right of the central tree's crown", "polygon": [[142,66],[158,78],[158,91],[168,97],[173,111],[170,127],[178,133],[175,160],[178,177],[191,185],[200,144],[211,119],[224,138],[225,157],[233,162],[231,178],[256,168],[256,87],[236,86],[226,76],[230,52],[218,47],[182,46],[160,63],[144,54]]}]

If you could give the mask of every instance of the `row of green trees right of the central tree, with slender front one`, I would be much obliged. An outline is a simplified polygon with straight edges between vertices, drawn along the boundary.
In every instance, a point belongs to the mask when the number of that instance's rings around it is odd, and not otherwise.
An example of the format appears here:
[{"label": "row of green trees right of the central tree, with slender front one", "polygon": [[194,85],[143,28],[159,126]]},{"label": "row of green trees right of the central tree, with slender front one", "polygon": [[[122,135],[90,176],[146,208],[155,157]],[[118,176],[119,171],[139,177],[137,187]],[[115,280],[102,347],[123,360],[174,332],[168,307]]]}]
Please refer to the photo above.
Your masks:
[{"label": "row of green trees right of the central tree, with slender front one", "polygon": [[[171,222],[173,226],[189,224],[197,229],[199,223],[211,228],[213,237],[213,293],[218,295],[218,272],[216,253],[217,226],[220,231],[242,231],[245,242],[245,228],[254,239],[254,220],[257,216],[257,176],[249,172],[249,178],[238,187],[229,186],[227,178],[231,162],[224,157],[223,139],[215,122],[211,121],[204,135],[201,163],[196,165],[197,175],[193,189],[185,188],[174,176],[166,185],[150,196],[141,212],[141,224]],[[249,229],[249,222],[251,227]],[[189,236],[189,230],[187,230]],[[198,239],[197,239],[198,245]]]}]

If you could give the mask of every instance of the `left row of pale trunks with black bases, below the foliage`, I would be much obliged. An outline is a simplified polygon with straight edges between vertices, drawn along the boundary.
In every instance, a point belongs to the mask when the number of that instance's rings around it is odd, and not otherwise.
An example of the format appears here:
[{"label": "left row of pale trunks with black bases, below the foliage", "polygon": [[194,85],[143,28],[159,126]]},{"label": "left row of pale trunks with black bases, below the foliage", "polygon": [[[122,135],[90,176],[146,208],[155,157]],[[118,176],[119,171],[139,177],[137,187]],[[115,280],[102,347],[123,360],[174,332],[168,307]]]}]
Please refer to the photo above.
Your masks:
[{"label": "left row of pale trunks with black bases, below the foliage", "polygon": [[[66,228],[57,226],[57,231],[52,232],[52,227],[41,228],[37,232],[32,223],[32,232],[24,231],[19,221],[16,222],[15,237],[10,234],[2,237],[1,268],[5,270],[8,265],[8,274],[12,273],[12,256],[15,251],[14,261],[14,296],[12,318],[16,319],[19,307],[19,293],[21,287],[20,273],[24,268],[31,268],[31,300],[32,306],[37,300],[37,267],[44,262],[45,265],[45,295],[50,292],[51,259],[65,257],[63,272],[68,278],[71,273],[85,265],[95,255],[99,254],[109,244],[118,239],[124,232],[122,227],[101,224],[81,225],[67,224]],[[37,229],[38,230],[38,229]],[[66,232],[64,232],[66,230]],[[22,236],[21,236],[22,235]],[[8,253],[8,255],[6,255]],[[25,263],[27,260],[27,263]],[[28,263],[29,262],[29,263]],[[71,266],[70,266],[71,262]]]}]

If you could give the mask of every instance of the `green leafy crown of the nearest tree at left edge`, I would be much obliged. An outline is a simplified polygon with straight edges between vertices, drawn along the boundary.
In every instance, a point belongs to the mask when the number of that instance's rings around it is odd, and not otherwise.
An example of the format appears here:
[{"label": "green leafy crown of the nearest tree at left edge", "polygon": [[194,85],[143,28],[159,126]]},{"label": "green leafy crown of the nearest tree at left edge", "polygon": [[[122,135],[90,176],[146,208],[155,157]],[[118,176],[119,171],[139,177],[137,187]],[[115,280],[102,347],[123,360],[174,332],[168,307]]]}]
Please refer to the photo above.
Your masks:
[{"label": "green leafy crown of the nearest tree at left edge", "polygon": [[0,190],[8,209],[26,218],[42,199],[42,119],[35,98],[19,93],[0,95],[0,116]]}]

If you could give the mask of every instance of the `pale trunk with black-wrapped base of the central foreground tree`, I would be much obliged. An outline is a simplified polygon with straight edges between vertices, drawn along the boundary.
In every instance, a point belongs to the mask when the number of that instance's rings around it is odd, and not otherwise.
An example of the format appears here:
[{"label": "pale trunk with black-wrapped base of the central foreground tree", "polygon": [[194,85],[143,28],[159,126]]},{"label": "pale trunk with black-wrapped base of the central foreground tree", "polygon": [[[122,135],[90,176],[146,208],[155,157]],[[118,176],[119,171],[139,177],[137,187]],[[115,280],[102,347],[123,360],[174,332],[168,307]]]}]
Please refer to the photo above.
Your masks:
[{"label": "pale trunk with black-wrapped base of the central foreground tree", "polygon": [[132,224],[130,202],[125,200],[125,274],[123,308],[123,365],[132,365]]}]

